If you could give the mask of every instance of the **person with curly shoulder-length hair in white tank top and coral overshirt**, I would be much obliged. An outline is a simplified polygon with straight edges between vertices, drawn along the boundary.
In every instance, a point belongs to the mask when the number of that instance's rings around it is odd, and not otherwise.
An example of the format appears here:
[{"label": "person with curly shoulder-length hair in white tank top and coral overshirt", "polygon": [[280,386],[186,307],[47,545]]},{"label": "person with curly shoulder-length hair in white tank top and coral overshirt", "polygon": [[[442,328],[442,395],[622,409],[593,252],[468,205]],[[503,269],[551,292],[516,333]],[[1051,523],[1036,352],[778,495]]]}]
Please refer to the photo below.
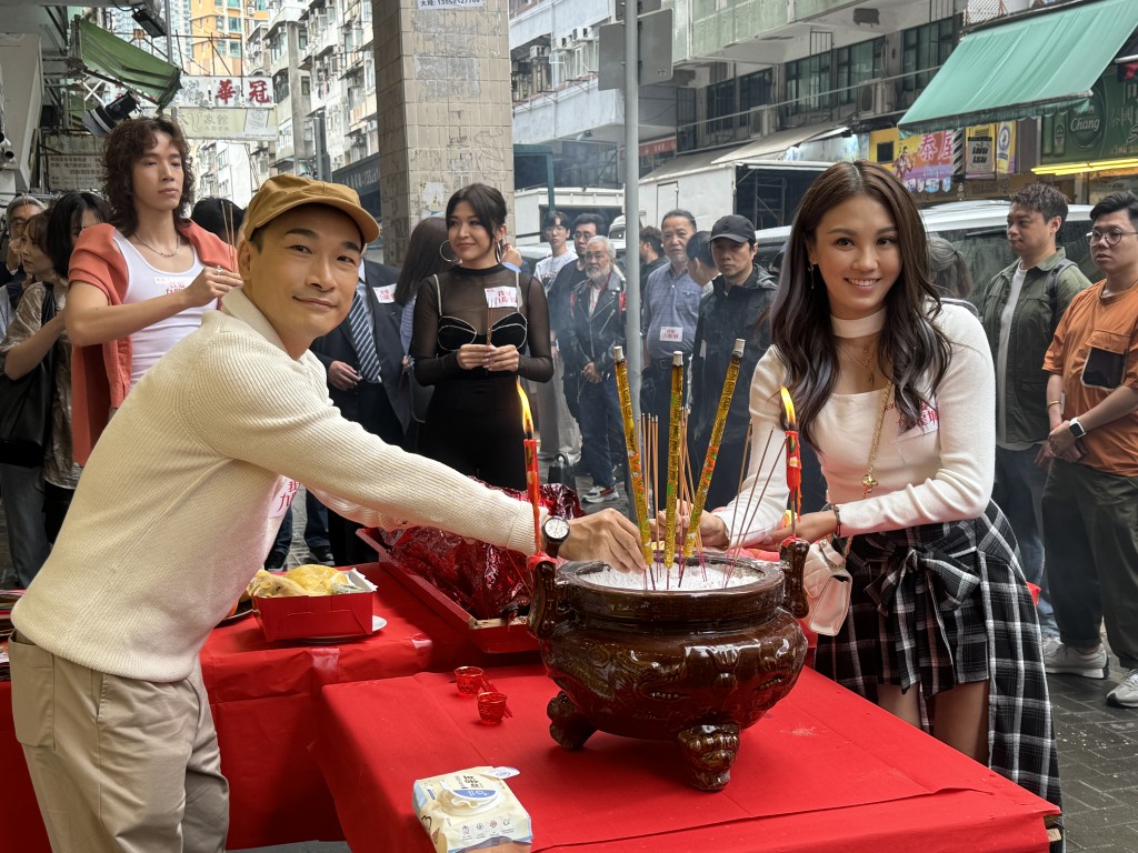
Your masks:
[{"label": "person with curly shoulder-length hair in white tank top and coral overshirt", "polygon": [[165,118],[117,125],[102,154],[113,215],[80,237],[65,310],[75,354],[75,457],[85,463],[110,413],[146,370],[241,285],[233,254],[185,218],[185,139]]}]

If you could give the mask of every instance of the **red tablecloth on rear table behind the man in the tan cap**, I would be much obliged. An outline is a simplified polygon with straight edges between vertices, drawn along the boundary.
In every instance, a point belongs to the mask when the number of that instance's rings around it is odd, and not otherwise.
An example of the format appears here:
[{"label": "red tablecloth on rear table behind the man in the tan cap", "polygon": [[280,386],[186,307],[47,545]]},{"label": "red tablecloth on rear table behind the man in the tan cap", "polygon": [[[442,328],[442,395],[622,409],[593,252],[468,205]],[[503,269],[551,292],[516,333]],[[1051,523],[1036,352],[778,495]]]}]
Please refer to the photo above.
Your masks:
[{"label": "red tablecloth on rear table behind the man in the tan cap", "polygon": [[[230,848],[344,837],[308,752],[316,736],[321,687],[488,663],[465,636],[380,565],[361,571],[379,587],[374,612],[387,626],[378,633],[338,646],[266,643],[249,616],[214,630],[201,651],[222,771],[230,784]],[[13,731],[8,682],[0,682],[0,853],[47,853],[47,835]]]}]

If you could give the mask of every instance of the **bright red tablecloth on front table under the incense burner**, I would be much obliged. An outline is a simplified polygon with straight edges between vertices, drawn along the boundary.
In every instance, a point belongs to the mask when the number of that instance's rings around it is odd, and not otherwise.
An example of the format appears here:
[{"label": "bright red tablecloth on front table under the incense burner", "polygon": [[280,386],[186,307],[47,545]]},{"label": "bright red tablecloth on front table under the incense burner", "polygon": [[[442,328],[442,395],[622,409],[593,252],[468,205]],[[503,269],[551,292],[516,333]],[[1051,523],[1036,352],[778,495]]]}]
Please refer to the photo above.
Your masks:
[{"label": "bright red tablecloth on front table under the incense burner", "polygon": [[1054,806],[811,670],[743,732],[717,794],[687,787],[670,744],[596,734],[562,750],[541,669],[492,674],[514,714],[498,727],[445,674],[323,689],[315,754],[353,853],[431,851],[413,780],[479,765],[521,771],[508,784],[535,852],[1047,851]]}]

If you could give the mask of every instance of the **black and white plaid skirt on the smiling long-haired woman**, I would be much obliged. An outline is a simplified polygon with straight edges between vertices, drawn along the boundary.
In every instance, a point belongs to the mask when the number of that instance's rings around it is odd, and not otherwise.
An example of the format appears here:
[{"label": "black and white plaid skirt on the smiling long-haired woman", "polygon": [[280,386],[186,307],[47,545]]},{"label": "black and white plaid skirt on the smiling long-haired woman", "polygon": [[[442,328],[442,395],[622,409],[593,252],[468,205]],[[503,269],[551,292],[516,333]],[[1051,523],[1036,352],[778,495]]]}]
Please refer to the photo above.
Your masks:
[{"label": "black and white plaid skirt on the smiling long-haired woman", "polygon": [[815,665],[872,702],[877,685],[926,702],[988,681],[988,765],[1061,805],[1039,622],[1012,528],[993,503],[979,519],[853,538],[849,615],[819,637]]}]

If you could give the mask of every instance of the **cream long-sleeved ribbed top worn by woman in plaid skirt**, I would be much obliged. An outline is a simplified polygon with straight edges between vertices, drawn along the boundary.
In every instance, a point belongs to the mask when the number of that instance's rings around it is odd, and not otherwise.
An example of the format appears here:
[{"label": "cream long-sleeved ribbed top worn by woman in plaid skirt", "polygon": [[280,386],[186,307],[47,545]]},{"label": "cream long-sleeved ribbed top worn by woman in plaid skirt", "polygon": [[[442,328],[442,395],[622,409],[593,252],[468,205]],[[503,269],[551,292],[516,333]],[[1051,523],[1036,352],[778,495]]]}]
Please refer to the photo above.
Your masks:
[{"label": "cream long-sleeved ribbed top worn by woman in plaid skirt", "polygon": [[[951,343],[951,363],[940,384],[932,389],[933,409],[922,413],[922,424],[902,430],[897,409],[889,404],[873,469],[877,486],[868,497],[861,497],[861,478],[884,389],[834,394],[818,413],[814,425],[816,449],[828,499],[841,505],[843,535],[975,519],[991,498],[996,472],[991,350],[980,321],[965,308],[946,305],[933,322]],[[716,511],[732,531],[733,543],[758,541],[778,524],[786,507],[786,466],[781,450],[785,433],[778,396],[778,387],[785,381],[778,351],[770,347],[751,380],[754,428],[748,479],[740,496]],[[772,430],[770,448],[757,474]],[[759,506],[758,497],[772,465],[774,474]],[[758,486],[752,492],[756,477]],[[748,524],[744,516],[750,515],[753,520]]]}]

